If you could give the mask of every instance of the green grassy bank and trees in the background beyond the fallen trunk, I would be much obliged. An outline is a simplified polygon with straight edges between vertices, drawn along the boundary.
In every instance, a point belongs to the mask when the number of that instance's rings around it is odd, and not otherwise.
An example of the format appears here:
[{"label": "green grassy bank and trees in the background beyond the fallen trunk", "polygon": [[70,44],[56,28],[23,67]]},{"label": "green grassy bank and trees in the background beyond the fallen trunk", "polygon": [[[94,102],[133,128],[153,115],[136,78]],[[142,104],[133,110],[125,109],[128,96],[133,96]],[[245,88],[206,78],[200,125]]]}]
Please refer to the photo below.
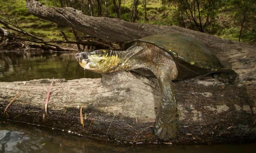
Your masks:
[{"label": "green grassy bank and trees in the background beyond the fallen trunk", "polygon": [[[241,41],[256,43],[256,0],[39,0],[46,6],[73,7],[95,17],[137,23],[177,25]],[[25,0],[0,0],[0,18],[43,38],[61,39],[63,27],[30,15]],[[3,27],[0,24],[1,27]]]}]

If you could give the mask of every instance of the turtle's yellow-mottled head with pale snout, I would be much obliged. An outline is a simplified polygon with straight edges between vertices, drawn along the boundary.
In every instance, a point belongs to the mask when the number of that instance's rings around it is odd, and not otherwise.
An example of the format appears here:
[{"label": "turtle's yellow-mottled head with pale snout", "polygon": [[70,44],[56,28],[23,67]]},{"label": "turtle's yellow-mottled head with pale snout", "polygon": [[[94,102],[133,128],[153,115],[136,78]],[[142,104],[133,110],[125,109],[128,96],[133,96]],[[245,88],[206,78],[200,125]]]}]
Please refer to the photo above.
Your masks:
[{"label": "turtle's yellow-mottled head with pale snout", "polygon": [[98,73],[115,72],[120,63],[117,53],[112,50],[84,51],[75,54],[76,60],[85,70]]}]

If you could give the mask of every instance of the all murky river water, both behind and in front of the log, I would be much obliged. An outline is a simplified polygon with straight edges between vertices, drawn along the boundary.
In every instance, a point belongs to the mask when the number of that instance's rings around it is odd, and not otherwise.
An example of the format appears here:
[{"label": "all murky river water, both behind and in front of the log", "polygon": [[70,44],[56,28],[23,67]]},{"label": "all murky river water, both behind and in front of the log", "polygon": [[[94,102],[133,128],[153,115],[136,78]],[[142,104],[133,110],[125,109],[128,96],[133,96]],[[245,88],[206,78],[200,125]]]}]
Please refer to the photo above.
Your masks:
[{"label": "all murky river water, both behind and in front of the log", "polygon": [[[52,78],[100,78],[84,71],[74,53],[0,52],[0,82]],[[2,108],[1,110],[2,111]],[[256,144],[167,145],[93,140],[56,133],[35,125],[0,119],[0,153],[256,153]]]}]

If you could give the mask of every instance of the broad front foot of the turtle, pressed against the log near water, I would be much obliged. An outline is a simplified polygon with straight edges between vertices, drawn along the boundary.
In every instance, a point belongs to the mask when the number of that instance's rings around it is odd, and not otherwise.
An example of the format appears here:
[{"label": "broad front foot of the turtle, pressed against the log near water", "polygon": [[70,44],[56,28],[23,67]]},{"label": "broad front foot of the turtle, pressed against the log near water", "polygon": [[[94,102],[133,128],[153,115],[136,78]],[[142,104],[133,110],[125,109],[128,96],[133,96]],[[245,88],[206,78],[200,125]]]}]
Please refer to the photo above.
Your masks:
[{"label": "broad front foot of the turtle, pressed against the log near water", "polygon": [[161,140],[169,140],[176,137],[178,131],[178,122],[162,123],[158,120],[155,125],[155,136]]}]

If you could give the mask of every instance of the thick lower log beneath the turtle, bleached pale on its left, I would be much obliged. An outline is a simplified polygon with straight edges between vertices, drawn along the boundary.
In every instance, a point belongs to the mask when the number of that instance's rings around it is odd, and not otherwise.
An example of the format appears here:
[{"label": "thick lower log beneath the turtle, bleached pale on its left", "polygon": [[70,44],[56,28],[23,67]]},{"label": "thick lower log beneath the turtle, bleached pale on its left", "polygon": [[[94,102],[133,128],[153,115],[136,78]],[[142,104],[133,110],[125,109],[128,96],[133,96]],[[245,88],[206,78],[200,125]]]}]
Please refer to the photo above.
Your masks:
[{"label": "thick lower log beneath the turtle, bleached pale on its left", "polygon": [[[1,119],[33,123],[97,138],[125,142],[157,142],[153,124],[158,114],[160,89],[156,79],[130,72],[101,79],[56,79],[44,121],[44,101],[50,79],[0,83],[2,111],[22,94]],[[246,86],[224,85],[210,77],[174,82],[180,115],[175,144],[253,142],[256,138],[255,103]],[[232,91],[232,92],[231,92]],[[85,127],[80,124],[82,106]]]}]

